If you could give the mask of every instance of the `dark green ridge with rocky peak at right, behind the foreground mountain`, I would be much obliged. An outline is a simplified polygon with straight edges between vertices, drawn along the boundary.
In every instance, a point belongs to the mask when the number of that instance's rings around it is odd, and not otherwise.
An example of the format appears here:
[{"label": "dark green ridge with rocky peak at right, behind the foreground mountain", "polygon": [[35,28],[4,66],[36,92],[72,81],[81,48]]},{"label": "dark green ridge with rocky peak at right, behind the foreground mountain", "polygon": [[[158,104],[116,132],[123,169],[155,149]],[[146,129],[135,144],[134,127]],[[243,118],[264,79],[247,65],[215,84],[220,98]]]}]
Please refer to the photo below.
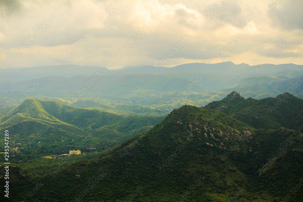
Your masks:
[{"label": "dark green ridge with rocky peak at right, behind the foreground mountain", "polygon": [[204,108],[220,110],[258,129],[276,130],[285,127],[303,132],[303,100],[289,93],[256,100],[244,99],[234,91],[223,100],[213,101]]}]

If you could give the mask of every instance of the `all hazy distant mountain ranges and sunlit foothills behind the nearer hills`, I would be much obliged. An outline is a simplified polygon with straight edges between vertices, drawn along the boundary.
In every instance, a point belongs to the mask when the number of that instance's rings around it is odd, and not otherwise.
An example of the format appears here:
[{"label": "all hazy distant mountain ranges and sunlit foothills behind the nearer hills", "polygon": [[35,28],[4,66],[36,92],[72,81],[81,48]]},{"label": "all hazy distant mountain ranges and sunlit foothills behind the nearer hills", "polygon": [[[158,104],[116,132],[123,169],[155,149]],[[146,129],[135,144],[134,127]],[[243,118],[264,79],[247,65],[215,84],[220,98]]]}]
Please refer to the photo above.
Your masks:
[{"label": "all hazy distant mountain ranges and sunlit foothills behind the nearer hills", "polygon": [[221,100],[232,91],[255,99],[284,92],[303,98],[302,79],[298,77],[302,65],[267,65],[262,71],[257,68],[223,62],[171,68],[126,66],[116,70],[78,65],[4,69],[0,74],[0,115],[26,98],[123,116],[165,116],[185,104],[204,106]]}]

